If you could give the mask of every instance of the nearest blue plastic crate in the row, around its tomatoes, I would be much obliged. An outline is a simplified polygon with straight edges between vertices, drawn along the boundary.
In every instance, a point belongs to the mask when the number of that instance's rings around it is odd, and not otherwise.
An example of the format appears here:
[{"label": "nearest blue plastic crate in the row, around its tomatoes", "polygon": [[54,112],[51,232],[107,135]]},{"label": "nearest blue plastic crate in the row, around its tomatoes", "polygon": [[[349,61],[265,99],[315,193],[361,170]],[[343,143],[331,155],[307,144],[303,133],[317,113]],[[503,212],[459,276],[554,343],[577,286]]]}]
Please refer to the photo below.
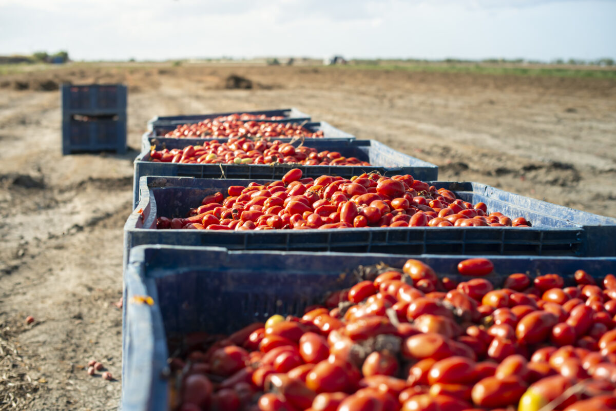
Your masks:
[{"label": "nearest blue plastic crate in the row, around its tomatoes", "polygon": [[[349,287],[359,265],[402,267],[418,258],[439,276],[461,279],[453,255],[233,252],[216,247],[137,247],[124,270],[122,410],[167,410],[166,338],[188,332],[231,333],[272,314],[301,316],[331,290]],[[490,257],[501,285],[512,273],[559,273],[573,284],[585,269],[600,277],[616,271],[616,258]],[[341,276],[341,273],[347,275]],[[465,277],[468,279],[468,277]],[[150,296],[153,305],[134,303]]]}]

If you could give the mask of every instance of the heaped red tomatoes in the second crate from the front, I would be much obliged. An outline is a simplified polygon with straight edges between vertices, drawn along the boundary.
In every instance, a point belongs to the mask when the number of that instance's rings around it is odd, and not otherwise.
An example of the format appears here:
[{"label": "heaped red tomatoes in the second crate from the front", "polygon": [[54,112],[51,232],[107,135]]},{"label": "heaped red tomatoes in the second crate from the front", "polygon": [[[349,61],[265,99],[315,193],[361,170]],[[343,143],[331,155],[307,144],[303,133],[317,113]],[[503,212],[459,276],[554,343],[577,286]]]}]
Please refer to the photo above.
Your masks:
[{"label": "heaped red tomatoes in the second crate from the front", "polygon": [[362,174],[347,180],[322,175],[302,178],[292,169],[281,181],[230,186],[228,196],[206,196],[186,218],[158,217],[156,228],[328,229],[361,227],[528,227],[524,217],[487,212],[483,202],[456,199],[411,175]]}]

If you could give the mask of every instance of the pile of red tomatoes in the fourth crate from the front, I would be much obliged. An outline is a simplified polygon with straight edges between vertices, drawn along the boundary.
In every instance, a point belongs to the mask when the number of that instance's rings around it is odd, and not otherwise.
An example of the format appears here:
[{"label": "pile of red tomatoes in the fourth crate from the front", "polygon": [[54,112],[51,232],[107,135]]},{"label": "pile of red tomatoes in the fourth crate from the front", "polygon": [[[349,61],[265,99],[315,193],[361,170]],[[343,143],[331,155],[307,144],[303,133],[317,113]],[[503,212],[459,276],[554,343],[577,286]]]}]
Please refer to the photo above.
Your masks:
[{"label": "pile of red tomatoes in the fourth crate from the front", "polygon": [[224,137],[309,137],[322,138],[323,131],[311,132],[298,123],[241,121],[239,119],[205,120],[182,124],[164,137],[171,138],[224,138]]}]

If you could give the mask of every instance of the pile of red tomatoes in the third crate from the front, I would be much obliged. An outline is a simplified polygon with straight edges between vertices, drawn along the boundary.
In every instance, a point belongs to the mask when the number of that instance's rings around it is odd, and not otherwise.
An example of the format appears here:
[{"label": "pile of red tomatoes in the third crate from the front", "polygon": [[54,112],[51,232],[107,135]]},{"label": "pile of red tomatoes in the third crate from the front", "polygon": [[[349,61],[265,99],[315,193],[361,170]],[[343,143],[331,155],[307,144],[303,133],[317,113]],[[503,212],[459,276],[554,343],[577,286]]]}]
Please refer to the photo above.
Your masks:
[{"label": "pile of red tomatoes in the third crate from the front", "polygon": [[302,164],[304,166],[370,166],[355,157],[343,157],[338,151],[321,151],[304,145],[294,147],[280,140],[251,141],[246,137],[229,138],[225,142],[206,140],[201,145],[181,150],[150,151],[150,161],[186,164]]}]

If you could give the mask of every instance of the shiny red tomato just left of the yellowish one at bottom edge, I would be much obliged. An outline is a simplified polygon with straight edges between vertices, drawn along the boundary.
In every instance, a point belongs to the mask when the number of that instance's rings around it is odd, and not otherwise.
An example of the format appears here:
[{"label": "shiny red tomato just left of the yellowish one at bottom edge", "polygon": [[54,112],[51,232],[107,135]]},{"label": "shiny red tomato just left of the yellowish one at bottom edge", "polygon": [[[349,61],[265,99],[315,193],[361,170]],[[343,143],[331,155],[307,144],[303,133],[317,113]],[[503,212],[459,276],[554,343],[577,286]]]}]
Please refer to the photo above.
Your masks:
[{"label": "shiny red tomato just left of the yellowish one at bottom edge", "polygon": [[507,407],[517,404],[526,391],[526,383],[522,378],[509,376],[498,379],[487,377],[472,387],[472,402],[480,407]]}]

